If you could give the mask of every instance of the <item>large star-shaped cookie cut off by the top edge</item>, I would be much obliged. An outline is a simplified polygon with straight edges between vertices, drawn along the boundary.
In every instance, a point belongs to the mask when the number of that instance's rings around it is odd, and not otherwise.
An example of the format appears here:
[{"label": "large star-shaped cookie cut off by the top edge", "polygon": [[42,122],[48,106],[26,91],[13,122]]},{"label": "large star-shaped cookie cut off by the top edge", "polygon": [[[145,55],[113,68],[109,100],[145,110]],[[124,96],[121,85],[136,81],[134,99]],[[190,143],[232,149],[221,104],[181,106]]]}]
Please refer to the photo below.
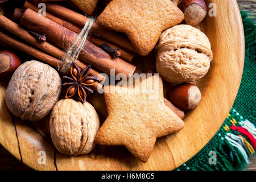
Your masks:
[{"label": "large star-shaped cookie cut off by the top edge", "polygon": [[183,19],[184,14],[171,0],[113,0],[98,16],[97,23],[125,33],[138,54],[146,56],[162,31]]}]

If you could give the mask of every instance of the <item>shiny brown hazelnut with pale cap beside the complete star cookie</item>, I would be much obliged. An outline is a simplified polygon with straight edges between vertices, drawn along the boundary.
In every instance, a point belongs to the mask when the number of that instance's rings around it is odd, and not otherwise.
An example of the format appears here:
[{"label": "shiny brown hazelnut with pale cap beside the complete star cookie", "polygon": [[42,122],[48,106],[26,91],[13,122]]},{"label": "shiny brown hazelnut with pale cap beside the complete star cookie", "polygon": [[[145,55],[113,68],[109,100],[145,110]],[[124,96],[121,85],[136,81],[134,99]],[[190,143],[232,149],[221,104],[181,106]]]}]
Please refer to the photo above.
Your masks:
[{"label": "shiny brown hazelnut with pale cap beside the complete star cookie", "polygon": [[201,92],[196,85],[179,84],[174,86],[169,93],[170,101],[183,110],[191,110],[199,105]]}]

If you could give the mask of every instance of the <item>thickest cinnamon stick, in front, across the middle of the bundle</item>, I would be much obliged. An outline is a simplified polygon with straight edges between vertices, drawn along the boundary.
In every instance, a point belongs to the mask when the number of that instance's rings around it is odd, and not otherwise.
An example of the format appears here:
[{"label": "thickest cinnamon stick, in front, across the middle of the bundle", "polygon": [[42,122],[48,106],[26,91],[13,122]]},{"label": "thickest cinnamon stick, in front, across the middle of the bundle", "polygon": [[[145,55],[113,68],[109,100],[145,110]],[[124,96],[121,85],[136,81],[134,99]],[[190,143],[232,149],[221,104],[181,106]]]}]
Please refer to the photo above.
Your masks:
[{"label": "thickest cinnamon stick, in front, across the middle of the bundle", "polygon": [[[24,11],[20,23],[39,34],[46,34],[49,42],[64,49],[67,49],[77,38],[75,32],[35,13],[35,11],[31,9]],[[115,75],[123,73],[129,77],[136,69],[134,65],[131,65],[122,59],[112,59],[108,53],[89,42],[89,40],[86,40],[85,46],[80,52],[79,59],[109,75],[113,74],[110,72],[110,69],[114,69]]]}]

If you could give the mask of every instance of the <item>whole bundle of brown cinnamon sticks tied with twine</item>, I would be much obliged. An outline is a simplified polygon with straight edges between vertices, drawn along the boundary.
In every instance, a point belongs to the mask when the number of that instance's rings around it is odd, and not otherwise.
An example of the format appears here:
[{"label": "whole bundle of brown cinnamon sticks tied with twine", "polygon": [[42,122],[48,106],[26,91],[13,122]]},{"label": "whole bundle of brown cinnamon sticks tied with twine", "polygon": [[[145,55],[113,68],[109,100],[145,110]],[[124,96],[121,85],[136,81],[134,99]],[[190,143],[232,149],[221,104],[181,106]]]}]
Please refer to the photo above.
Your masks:
[{"label": "whole bundle of brown cinnamon sticks tied with twine", "polygon": [[[30,1],[32,3],[28,1],[24,3],[23,9],[15,9],[13,15],[13,19],[26,28],[5,16],[0,16],[0,40],[60,68],[62,65],[61,57],[65,53],[61,49],[68,49],[75,41],[87,18],[64,6],[52,3],[46,3],[47,13],[44,17],[38,14],[39,9],[36,6],[38,1]],[[31,34],[31,30],[35,32],[34,35]],[[7,34],[6,31],[23,40]],[[89,40],[86,41],[79,55],[79,60],[75,60],[79,67],[85,68],[86,64],[91,64],[93,68],[101,72],[110,74],[110,69],[115,69],[115,75],[123,73],[127,77],[134,73],[136,67],[128,62],[133,59],[135,51],[125,35],[107,30],[96,22],[93,23],[91,31],[94,35],[89,36]],[[46,41],[40,42],[35,35],[43,34]],[[119,57],[114,58],[110,53],[111,51],[108,52],[104,49],[102,46],[104,44],[107,44],[110,49],[118,50]],[[92,69],[91,74],[104,81],[105,76],[96,69]],[[97,88],[97,86],[94,87]]]}]

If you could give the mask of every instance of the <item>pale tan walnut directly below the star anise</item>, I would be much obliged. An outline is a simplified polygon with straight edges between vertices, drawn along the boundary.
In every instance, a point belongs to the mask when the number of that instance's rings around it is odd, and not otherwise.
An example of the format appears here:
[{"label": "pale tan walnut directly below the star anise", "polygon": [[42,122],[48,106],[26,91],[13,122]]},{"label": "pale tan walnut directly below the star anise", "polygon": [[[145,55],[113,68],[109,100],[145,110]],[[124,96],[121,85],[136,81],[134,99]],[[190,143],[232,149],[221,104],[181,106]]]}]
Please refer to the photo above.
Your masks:
[{"label": "pale tan walnut directly below the star anise", "polygon": [[52,109],[49,129],[53,144],[67,155],[88,154],[95,146],[100,119],[94,107],[72,98],[60,100]]}]

